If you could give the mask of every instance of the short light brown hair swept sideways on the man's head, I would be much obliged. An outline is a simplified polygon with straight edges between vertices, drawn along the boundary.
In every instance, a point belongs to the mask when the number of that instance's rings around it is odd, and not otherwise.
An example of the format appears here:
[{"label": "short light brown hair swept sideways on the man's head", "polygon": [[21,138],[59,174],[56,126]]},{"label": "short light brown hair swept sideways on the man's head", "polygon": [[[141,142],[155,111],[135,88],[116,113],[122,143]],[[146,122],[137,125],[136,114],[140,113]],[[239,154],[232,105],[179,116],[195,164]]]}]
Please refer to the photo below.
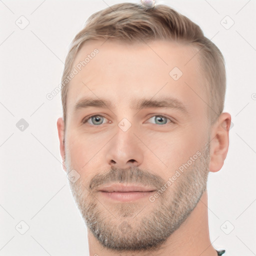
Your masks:
[{"label": "short light brown hair swept sideways on the man's head", "polygon": [[224,58],[201,28],[167,5],[145,8],[135,3],[118,3],[93,13],[70,43],[61,78],[63,119],[66,123],[67,75],[82,44],[89,39],[114,38],[122,41],[172,40],[198,49],[209,91],[210,123],[223,111],[226,88]]}]

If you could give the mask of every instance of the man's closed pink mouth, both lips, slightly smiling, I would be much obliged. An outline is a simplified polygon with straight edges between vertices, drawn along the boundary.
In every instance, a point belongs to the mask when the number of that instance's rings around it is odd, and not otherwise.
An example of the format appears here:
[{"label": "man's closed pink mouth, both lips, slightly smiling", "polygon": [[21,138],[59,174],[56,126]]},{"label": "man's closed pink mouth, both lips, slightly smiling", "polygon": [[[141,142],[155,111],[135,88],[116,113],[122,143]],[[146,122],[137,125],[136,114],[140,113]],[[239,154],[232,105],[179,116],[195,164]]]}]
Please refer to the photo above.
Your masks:
[{"label": "man's closed pink mouth, both lips, slightly smiling", "polygon": [[149,196],[156,191],[156,188],[136,184],[114,183],[99,187],[98,191],[108,199],[131,201]]}]

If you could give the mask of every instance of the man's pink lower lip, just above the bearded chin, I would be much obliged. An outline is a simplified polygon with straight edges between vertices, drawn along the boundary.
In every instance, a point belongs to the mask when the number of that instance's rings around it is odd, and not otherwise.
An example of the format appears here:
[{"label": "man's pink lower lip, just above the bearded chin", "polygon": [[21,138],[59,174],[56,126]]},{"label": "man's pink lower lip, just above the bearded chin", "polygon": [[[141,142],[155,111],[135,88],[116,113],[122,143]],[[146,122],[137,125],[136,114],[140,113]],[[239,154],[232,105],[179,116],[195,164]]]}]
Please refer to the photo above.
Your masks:
[{"label": "man's pink lower lip, just above the bearded chin", "polygon": [[108,197],[110,199],[118,200],[118,201],[132,201],[137,200],[140,198],[144,198],[146,196],[150,196],[151,193],[154,191],[146,191],[146,192],[106,192],[106,191],[100,191],[101,194],[105,197]]}]

